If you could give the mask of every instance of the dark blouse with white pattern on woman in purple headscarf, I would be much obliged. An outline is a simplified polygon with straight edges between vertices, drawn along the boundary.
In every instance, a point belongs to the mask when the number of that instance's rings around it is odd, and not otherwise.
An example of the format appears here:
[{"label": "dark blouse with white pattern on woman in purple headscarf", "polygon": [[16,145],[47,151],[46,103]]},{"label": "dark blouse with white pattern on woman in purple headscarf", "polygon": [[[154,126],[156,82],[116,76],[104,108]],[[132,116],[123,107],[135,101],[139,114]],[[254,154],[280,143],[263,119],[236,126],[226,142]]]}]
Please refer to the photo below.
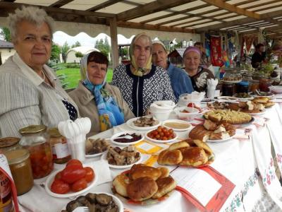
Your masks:
[{"label": "dark blouse with white pattern on woman in purple headscarf", "polygon": [[194,76],[190,76],[194,90],[198,92],[207,91],[207,79],[214,78],[214,74],[209,69],[203,67],[198,68],[198,72]]}]

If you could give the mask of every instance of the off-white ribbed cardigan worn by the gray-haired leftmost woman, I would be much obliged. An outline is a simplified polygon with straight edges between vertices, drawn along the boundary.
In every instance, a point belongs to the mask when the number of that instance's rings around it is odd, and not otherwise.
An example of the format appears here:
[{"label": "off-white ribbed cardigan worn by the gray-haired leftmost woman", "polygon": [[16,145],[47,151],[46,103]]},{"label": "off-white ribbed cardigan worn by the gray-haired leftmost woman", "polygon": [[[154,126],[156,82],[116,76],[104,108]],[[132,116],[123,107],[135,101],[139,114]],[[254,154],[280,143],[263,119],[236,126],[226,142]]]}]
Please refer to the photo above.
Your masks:
[{"label": "off-white ribbed cardigan worn by the gray-haired leftmost woman", "polygon": [[71,100],[54,72],[43,66],[49,86],[16,53],[0,66],[0,137],[20,137],[18,130],[31,124],[54,127],[69,119],[62,100]]}]

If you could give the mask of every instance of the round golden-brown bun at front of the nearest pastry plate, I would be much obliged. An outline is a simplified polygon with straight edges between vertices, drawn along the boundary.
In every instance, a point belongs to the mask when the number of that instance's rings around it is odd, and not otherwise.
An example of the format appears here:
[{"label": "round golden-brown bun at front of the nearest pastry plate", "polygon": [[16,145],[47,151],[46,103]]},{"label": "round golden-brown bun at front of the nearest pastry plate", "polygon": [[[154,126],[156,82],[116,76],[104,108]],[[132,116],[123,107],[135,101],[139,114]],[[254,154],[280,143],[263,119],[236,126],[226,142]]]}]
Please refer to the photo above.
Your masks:
[{"label": "round golden-brown bun at front of the nearest pastry plate", "polygon": [[128,197],[134,201],[151,198],[158,191],[157,182],[151,177],[139,177],[128,184]]}]

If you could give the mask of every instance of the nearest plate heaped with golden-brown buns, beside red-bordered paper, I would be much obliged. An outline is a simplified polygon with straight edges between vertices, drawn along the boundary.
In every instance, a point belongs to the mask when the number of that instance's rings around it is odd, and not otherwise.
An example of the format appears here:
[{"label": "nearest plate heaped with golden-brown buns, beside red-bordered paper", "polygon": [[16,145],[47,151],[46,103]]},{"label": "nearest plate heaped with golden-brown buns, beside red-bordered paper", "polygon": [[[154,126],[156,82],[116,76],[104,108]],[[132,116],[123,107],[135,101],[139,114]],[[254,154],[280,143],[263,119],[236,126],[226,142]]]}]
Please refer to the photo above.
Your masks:
[{"label": "nearest plate heaped with golden-brown buns, beside red-bordered paper", "polygon": [[166,167],[151,167],[144,164],[133,165],[112,184],[113,193],[128,204],[157,204],[167,199],[176,188],[176,181]]}]

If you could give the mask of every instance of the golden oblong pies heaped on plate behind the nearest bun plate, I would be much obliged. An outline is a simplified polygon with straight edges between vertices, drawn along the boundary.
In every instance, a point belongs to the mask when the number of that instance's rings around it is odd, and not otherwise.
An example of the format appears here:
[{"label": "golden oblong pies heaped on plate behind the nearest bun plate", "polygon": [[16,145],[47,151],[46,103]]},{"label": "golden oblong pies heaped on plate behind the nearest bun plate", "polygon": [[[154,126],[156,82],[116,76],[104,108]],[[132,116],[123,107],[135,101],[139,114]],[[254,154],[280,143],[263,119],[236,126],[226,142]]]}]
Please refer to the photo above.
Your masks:
[{"label": "golden oblong pies heaped on plate behind the nearest bun plate", "polygon": [[186,167],[203,167],[214,162],[211,148],[200,140],[187,139],[172,143],[161,151],[157,162],[159,165],[183,165]]}]

